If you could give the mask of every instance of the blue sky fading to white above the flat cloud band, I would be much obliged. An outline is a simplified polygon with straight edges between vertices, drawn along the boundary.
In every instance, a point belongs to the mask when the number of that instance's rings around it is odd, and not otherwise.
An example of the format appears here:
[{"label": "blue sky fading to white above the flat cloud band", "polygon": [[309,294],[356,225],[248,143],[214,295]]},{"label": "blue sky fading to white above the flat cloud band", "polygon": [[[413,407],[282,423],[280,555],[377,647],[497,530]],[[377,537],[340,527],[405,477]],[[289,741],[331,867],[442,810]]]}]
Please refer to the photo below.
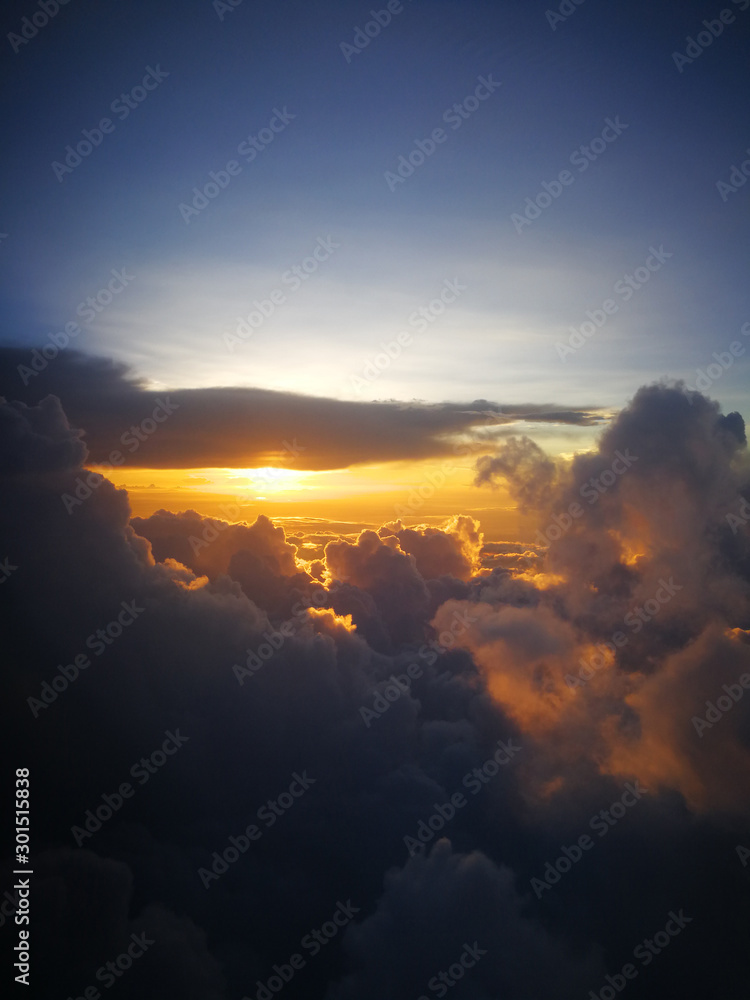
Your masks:
[{"label": "blue sky fading to white above the flat cloud band", "polygon": [[[682,72],[673,52],[718,10],[589,0],[553,30],[543,4],[407,2],[347,61],[341,43],[380,5],[70,3],[17,53],[5,41],[3,339],[46,342],[124,268],[76,346],[157,386],[619,407],[656,378],[694,383],[750,320],[750,186],[717,191],[750,156],[744,3]],[[36,9],[8,14],[6,34]],[[111,110],[149,67],[168,75],[127,117]],[[444,113],[488,75],[501,85],[452,128]],[[238,146],[279,111],[248,163]],[[53,162],[107,116],[60,181]],[[581,171],[571,156],[606,119],[627,128]],[[386,173],[438,127],[445,141],[391,190]],[[186,222],[180,204],[230,160],[241,172]],[[518,233],[513,213],[566,169]],[[295,290],[283,275],[318,240],[338,246]],[[672,256],[625,302],[616,282],[651,248]],[[465,291],[410,326],[446,281]],[[274,290],[283,304],[230,351],[225,334]],[[608,298],[616,314],[561,360]],[[402,331],[409,345],[357,390]],[[726,409],[747,412],[746,355],[712,385]]]}]

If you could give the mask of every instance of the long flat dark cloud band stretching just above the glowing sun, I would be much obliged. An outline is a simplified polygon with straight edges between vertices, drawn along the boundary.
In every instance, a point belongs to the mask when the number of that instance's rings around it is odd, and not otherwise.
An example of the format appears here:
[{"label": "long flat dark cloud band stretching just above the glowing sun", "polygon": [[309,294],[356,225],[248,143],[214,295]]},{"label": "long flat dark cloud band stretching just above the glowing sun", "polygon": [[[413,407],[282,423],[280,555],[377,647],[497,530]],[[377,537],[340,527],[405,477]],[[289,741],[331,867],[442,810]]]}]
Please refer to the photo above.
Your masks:
[{"label": "long flat dark cloud band stretching just above the glowing sun", "polygon": [[492,423],[602,419],[597,407],[516,409],[484,400],[360,403],[230,386],[154,392],[107,359],[66,350],[41,359],[38,374],[19,375],[19,365],[33,371],[29,359],[28,350],[0,349],[0,391],[23,402],[58,396],[71,423],[85,428],[90,460],[110,461],[118,451],[123,467],[340,469],[450,455],[454,435]]}]

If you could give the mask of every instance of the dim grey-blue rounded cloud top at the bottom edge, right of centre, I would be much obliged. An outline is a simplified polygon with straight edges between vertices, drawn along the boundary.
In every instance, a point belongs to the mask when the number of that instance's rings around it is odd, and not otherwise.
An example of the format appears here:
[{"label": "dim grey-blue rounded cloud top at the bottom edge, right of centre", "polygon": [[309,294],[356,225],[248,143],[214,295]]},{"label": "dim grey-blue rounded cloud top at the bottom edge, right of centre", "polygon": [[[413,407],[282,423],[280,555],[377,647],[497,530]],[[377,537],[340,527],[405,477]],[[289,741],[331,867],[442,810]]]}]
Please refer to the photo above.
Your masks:
[{"label": "dim grey-blue rounded cloud top at the bottom edge, right of centre", "polygon": [[357,971],[326,1000],[440,996],[448,989],[440,974],[450,979],[449,967],[461,968],[467,944],[459,988],[476,1000],[572,1000],[603,975],[599,956],[566,953],[524,913],[511,871],[478,851],[454,853],[440,840],[429,857],[389,872],[375,913],[347,930],[345,949]]}]

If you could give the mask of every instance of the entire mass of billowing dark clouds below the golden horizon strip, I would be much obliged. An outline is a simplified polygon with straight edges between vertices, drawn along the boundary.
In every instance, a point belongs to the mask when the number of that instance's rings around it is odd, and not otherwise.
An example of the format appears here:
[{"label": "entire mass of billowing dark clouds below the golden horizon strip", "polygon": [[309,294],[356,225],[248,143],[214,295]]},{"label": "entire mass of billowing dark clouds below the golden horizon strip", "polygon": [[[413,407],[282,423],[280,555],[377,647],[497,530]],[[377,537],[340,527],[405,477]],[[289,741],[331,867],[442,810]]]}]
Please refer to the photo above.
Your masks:
[{"label": "entire mass of billowing dark clouds below the golden horizon strip", "polygon": [[[61,405],[3,403],[0,430],[0,558],[16,567],[0,586],[0,745],[32,775],[39,995],[82,995],[143,930],[156,943],[123,997],[255,997],[299,953],[284,996],[415,1000],[475,942],[487,955],[456,997],[586,996],[680,907],[684,941],[634,988],[741,995],[740,418],[642,390],[548,492],[532,476],[546,553],[482,548],[461,516],[351,536],[192,511],[131,520],[106,479],[68,509],[85,450]],[[592,478],[606,489],[589,503]],[[640,629],[624,624],[649,600]],[[608,658],[597,647],[618,629],[628,642]],[[177,730],[184,746],[160,758]],[[502,767],[500,744],[518,748]],[[159,766],[141,782],[144,759]],[[295,775],[312,779],[301,795]],[[634,781],[642,801],[600,837],[592,819]],[[116,804],[123,782],[133,795]],[[76,846],[104,795],[111,815]],[[591,850],[534,892],[582,834]],[[356,908],[345,929],[328,923],[339,903]],[[313,955],[302,942],[321,928]]]}]

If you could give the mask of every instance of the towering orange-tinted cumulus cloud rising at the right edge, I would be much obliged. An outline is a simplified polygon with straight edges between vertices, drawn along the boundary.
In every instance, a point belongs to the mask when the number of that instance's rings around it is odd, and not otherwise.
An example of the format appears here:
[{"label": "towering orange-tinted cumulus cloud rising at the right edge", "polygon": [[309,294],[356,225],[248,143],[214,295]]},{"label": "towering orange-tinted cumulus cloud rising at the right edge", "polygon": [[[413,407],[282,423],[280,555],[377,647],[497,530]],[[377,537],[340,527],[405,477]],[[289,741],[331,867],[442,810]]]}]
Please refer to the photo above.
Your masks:
[{"label": "towering orange-tinted cumulus cloud rising at the right edge", "polygon": [[[485,592],[463,640],[500,703],[557,758],[559,780],[545,787],[575,781],[574,759],[595,759],[694,808],[744,811],[740,787],[711,777],[719,751],[698,750],[691,724],[711,678],[720,689],[741,674],[747,652],[723,638],[750,613],[747,536],[727,521],[749,481],[741,418],[650,386],[553,480],[540,504],[549,546],[530,574],[539,605],[510,609]],[[665,698],[672,685],[680,696]],[[716,741],[735,774],[750,763],[742,732],[725,726]]]}]

